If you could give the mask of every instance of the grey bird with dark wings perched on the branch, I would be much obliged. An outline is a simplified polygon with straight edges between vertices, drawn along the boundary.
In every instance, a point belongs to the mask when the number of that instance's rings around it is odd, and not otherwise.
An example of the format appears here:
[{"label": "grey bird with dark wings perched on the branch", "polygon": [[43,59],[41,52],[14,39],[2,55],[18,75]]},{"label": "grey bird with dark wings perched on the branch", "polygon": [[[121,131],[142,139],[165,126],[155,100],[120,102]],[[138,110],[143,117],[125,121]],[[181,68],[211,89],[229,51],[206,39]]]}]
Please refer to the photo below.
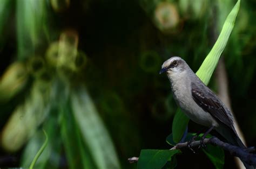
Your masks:
[{"label": "grey bird with dark wings perched on the branch", "polygon": [[[172,57],[166,60],[159,74],[164,72],[171,82],[173,97],[179,107],[192,121],[210,128],[204,133],[202,140],[215,129],[230,144],[246,147],[234,129],[230,110],[183,59]],[[244,165],[246,168],[254,168],[246,163]]]}]

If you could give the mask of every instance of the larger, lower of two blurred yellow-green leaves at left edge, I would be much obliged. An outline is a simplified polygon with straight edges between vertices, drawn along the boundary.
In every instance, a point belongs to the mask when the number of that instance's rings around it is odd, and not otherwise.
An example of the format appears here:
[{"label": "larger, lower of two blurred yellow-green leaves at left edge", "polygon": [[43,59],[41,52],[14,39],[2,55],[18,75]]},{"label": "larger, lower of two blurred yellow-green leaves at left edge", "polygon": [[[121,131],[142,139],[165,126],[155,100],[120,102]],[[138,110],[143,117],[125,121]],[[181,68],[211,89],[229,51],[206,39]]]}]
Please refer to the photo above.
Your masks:
[{"label": "larger, lower of two blurred yellow-green leaves at left edge", "polygon": [[3,147],[13,152],[21,149],[48,116],[52,102],[52,82],[34,81],[30,94],[16,107],[4,126]]}]

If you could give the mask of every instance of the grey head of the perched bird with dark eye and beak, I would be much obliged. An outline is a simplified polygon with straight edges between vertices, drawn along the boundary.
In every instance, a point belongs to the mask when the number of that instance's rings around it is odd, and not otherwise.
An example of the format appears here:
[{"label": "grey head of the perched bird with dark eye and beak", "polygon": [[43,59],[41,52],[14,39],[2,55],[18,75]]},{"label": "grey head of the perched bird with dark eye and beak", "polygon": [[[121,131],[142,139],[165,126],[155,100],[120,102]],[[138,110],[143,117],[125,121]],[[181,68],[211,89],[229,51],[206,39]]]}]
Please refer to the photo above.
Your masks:
[{"label": "grey head of the perched bird with dark eye and beak", "polygon": [[159,74],[166,72],[168,75],[182,73],[186,70],[187,64],[180,57],[172,57],[164,62]]}]

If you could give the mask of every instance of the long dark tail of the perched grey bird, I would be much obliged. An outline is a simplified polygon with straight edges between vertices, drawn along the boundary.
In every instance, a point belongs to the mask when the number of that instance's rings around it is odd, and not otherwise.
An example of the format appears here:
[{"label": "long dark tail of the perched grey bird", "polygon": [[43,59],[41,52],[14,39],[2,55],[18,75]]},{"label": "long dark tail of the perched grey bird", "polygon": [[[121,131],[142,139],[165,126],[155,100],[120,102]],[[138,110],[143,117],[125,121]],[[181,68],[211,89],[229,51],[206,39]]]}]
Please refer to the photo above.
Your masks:
[{"label": "long dark tail of the perched grey bird", "polygon": [[[220,133],[221,136],[223,136],[227,140],[228,143],[235,146],[239,146],[241,148],[246,148],[244,143],[242,143],[241,139],[238,137],[237,132],[235,132],[235,130],[230,129],[227,126],[220,126],[216,130]],[[242,163],[244,164],[246,169],[255,169],[254,166],[248,165],[244,161],[242,161]]]}]

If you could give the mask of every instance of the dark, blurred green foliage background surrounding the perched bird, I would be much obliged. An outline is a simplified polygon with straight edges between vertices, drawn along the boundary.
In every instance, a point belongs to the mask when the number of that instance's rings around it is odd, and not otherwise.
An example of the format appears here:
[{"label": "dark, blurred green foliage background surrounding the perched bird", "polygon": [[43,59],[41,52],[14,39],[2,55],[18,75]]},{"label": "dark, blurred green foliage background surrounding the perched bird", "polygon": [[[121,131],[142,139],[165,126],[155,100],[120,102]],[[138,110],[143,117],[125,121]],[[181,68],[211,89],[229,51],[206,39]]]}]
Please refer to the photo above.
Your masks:
[{"label": "dark, blurred green foliage background surrounding the perched bird", "polygon": [[[235,2],[1,0],[0,167],[29,167],[42,129],[49,141],[35,168],[136,168],[126,159],[141,149],[169,149],[177,105],[160,66],[179,55],[196,72]],[[255,6],[241,1],[223,54],[248,145],[256,142]],[[214,168],[204,153],[176,158],[164,167]],[[232,158],[224,167],[234,168]]]}]

